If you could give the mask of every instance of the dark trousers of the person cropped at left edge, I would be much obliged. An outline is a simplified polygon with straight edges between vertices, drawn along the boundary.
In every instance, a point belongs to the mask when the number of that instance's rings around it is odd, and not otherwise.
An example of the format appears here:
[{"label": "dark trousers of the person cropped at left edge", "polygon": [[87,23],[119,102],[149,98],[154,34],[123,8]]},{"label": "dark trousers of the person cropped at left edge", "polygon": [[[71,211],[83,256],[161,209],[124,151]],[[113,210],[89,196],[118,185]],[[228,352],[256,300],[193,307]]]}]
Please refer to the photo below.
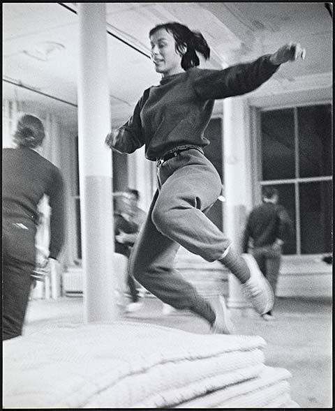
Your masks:
[{"label": "dark trousers of the person cropped at left edge", "polygon": [[36,227],[29,223],[3,222],[3,340],[22,335],[36,258]]}]

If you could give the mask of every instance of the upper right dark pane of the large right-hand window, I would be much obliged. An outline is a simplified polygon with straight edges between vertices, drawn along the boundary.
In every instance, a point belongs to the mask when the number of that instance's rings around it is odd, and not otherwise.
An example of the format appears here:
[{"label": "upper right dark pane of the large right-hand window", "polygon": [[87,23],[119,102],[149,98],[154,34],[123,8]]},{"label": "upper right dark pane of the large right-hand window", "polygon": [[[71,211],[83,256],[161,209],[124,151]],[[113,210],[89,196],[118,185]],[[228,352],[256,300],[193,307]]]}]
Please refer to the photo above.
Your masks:
[{"label": "upper right dark pane of the large right-hand window", "polygon": [[299,177],[332,174],[332,105],[298,107]]}]

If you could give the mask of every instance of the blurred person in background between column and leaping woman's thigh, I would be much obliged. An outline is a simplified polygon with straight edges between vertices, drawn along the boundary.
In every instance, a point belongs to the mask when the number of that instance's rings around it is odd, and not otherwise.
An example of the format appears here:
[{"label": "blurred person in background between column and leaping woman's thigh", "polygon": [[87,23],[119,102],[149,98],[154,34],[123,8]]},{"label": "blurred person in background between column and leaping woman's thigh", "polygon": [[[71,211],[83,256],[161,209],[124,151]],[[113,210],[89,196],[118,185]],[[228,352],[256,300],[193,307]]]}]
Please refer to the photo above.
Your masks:
[{"label": "blurred person in background between column and leaping woman's thigh", "polygon": [[[140,227],[146,218],[145,211],[138,206],[140,193],[132,188],[127,188],[124,195],[123,207],[114,215],[115,253],[131,255],[131,248],[135,243]],[[140,300],[135,280],[127,273],[127,283],[131,292],[132,302],[126,306],[126,312],[139,310],[143,303]]]}]

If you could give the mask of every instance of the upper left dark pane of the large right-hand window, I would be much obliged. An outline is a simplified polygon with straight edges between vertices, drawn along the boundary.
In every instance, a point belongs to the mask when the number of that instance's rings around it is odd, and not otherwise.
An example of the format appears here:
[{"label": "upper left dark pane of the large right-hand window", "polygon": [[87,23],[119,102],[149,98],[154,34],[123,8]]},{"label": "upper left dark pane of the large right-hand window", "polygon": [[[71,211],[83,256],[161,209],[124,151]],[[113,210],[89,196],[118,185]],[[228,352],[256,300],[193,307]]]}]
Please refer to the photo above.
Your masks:
[{"label": "upper left dark pane of the large right-hand window", "polygon": [[295,119],[292,109],[261,112],[262,180],[295,178]]}]

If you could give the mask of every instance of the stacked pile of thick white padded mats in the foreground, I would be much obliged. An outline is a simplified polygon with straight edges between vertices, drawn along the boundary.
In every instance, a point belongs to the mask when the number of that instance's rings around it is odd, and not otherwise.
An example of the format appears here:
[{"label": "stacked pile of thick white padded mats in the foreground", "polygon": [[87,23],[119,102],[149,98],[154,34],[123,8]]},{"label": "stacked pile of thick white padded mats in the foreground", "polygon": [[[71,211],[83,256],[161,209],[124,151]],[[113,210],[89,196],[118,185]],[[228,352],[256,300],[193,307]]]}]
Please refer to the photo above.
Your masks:
[{"label": "stacked pile of thick white padded mats in the foreground", "polygon": [[3,408],[292,408],[259,336],[132,322],[68,324],[3,342]]}]

